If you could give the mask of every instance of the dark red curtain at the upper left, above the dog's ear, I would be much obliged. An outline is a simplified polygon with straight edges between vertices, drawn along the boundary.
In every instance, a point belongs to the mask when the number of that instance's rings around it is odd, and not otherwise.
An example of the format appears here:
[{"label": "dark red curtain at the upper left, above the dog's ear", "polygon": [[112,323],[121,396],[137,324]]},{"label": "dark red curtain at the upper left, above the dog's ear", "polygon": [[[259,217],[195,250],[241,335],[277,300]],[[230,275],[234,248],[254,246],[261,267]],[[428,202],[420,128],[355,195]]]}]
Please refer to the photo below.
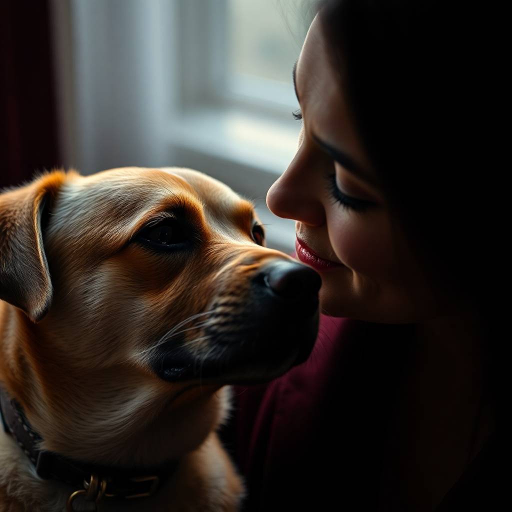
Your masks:
[{"label": "dark red curtain at the upper left, above the dog's ear", "polygon": [[49,0],[0,1],[0,188],[58,165]]}]

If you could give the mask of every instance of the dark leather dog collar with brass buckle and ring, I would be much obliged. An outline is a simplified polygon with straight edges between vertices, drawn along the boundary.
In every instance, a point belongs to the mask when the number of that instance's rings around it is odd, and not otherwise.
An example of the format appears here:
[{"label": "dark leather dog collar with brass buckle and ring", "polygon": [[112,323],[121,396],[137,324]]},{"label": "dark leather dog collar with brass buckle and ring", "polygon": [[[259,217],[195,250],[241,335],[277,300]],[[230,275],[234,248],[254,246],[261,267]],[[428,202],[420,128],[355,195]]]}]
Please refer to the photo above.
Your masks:
[{"label": "dark leather dog collar with brass buckle and ring", "polygon": [[77,490],[70,495],[68,510],[80,495],[98,502],[101,498],[144,498],[157,492],[162,483],[172,476],[178,461],[157,468],[117,468],[77,462],[57,453],[39,450],[42,438],[28,422],[19,403],[0,387],[0,418],[4,430],[35,466],[37,475],[67,483]]}]

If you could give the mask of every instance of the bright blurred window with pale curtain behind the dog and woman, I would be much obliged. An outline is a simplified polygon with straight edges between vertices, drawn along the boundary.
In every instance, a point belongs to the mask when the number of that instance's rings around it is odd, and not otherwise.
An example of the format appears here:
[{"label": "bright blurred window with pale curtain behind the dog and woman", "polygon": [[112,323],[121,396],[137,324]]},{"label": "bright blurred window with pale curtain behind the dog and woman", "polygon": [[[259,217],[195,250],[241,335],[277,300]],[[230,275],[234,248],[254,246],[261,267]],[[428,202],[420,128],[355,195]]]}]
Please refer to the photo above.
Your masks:
[{"label": "bright blurred window with pale curtain behind the dog and woman", "polygon": [[295,152],[291,70],[313,6],[53,0],[64,163],[202,170],[254,200],[269,245],[290,252],[293,222],[265,195]]}]

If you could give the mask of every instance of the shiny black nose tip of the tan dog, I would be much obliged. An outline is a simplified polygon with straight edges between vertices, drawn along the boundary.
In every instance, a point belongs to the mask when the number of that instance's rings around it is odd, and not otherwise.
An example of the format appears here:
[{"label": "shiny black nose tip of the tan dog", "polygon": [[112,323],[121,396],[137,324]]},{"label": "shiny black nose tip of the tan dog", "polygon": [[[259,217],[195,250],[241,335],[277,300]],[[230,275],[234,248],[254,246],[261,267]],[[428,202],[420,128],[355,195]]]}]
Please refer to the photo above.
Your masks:
[{"label": "shiny black nose tip of the tan dog", "polygon": [[316,296],[322,286],[322,279],[312,268],[292,261],[265,266],[263,282],[276,295],[286,299]]}]

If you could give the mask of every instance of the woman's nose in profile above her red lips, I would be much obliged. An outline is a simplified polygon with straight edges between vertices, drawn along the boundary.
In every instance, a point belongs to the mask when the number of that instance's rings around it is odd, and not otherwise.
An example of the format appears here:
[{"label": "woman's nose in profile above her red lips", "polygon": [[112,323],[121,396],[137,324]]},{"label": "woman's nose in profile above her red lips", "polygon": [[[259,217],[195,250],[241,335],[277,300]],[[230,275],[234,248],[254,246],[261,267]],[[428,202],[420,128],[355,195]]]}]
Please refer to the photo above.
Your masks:
[{"label": "woman's nose in profile above her red lips", "polygon": [[[321,198],[318,178],[308,158],[300,148],[286,171],[274,182],[267,193],[267,206],[273,214],[293,219],[311,226],[325,222],[325,210]],[[320,178],[321,179],[321,178]]]}]

